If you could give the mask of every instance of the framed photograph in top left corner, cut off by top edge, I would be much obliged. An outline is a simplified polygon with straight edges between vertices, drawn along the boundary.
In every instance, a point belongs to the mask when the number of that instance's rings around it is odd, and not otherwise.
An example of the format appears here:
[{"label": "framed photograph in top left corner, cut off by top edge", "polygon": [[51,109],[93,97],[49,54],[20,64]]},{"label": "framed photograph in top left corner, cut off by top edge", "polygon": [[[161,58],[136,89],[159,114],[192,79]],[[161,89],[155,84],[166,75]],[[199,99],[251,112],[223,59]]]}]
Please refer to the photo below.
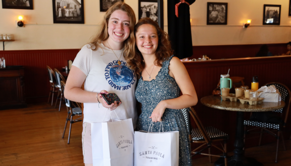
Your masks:
[{"label": "framed photograph in top left corner, cut off by top edge", "polygon": [[33,0],[2,0],[2,8],[33,10]]}]

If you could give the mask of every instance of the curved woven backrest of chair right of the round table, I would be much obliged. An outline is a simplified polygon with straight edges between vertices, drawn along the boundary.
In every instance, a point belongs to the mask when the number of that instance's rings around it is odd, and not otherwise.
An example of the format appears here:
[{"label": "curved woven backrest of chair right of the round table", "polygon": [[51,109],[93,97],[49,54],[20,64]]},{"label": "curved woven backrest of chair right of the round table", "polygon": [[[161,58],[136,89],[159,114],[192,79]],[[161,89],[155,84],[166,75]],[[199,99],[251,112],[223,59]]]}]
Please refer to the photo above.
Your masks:
[{"label": "curved woven backrest of chair right of the round table", "polygon": [[285,113],[285,119],[284,119],[284,126],[287,123],[288,115],[289,115],[289,110],[290,110],[290,103],[291,103],[291,91],[290,89],[283,83],[266,83],[263,86],[270,86],[270,85],[275,85],[275,87],[279,90],[281,93],[281,99],[285,102],[285,107],[279,110],[275,110],[274,112],[279,112],[283,113],[283,110],[286,110]]}]

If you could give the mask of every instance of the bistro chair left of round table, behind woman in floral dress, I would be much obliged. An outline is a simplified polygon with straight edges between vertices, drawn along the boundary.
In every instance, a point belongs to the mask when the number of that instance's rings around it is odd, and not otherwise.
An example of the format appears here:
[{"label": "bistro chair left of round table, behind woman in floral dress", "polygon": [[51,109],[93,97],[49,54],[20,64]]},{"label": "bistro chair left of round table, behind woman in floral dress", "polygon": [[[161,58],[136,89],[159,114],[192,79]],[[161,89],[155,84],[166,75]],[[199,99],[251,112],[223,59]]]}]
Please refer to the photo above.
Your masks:
[{"label": "bistro chair left of round table, behind woman in floral dress", "polygon": [[[221,157],[224,158],[225,166],[227,166],[227,140],[229,138],[228,134],[212,126],[204,128],[193,107],[185,108],[182,109],[181,111],[184,115],[187,127],[189,129],[188,131],[191,144],[192,143],[202,144],[193,151],[191,151],[191,155],[194,156],[199,154],[209,156],[210,163],[212,163],[211,156]],[[189,114],[194,119],[194,122],[198,128],[192,128]],[[220,141],[224,142],[224,145],[221,144],[222,148],[219,148],[213,144],[213,142]],[[223,155],[222,156],[212,155],[210,150],[212,146],[220,150],[223,153]],[[208,153],[202,153],[202,151],[206,149],[208,149]]]}]

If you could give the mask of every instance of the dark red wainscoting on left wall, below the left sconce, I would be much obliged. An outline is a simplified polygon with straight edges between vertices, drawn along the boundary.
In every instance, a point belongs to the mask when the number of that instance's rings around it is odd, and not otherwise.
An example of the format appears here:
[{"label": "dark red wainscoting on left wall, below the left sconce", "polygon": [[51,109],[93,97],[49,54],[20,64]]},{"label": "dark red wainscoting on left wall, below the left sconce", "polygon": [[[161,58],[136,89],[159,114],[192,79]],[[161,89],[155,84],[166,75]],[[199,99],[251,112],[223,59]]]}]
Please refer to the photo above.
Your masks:
[{"label": "dark red wainscoting on left wall, below the left sconce", "polygon": [[0,51],[0,57],[5,58],[6,66],[25,68],[25,97],[27,103],[32,103],[48,100],[50,85],[46,66],[61,71],[78,52],[79,49]]}]

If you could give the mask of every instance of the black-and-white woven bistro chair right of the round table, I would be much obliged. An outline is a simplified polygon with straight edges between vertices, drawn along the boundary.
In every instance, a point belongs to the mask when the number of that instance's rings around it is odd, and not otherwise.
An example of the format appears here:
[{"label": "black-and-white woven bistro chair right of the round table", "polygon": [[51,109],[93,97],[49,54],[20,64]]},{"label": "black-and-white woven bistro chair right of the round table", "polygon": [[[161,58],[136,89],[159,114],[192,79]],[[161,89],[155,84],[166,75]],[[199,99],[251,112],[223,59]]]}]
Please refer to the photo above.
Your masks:
[{"label": "black-and-white woven bistro chair right of the round table", "polygon": [[[280,110],[273,111],[273,112],[281,113],[281,120],[282,121],[278,122],[278,123],[267,123],[267,122],[258,122],[258,121],[245,120],[244,121],[244,132],[245,132],[244,133],[244,139],[245,139],[245,134],[248,131],[251,131],[251,130],[254,130],[254,129],[261,129],[261,131],[260,131],[260,139],[259,139],[259,146],[261,145],[263,131],[275,136],[277,138],[277,149],[276,149],[275,163],[278,163],[278,150],[279,150],[280,137],[282,137],[284,150],[286,150],[284,137],[283,137],[283,134],[282,134],[282,129],[285,128],[286,123],[287,123],[287,119],[288,119],[288,113],[289,113],[290,103],[291,103],[291,96],[290,96],[291,92],[290,92],[289,88],[286,85],[282,84],[282,83],[267,83],[265,85],[267,85],[267,86],[275,85],[276,88],[281,93],[282,100],[286,103],[284,108],[282,108]],[[246,127],[247,125],[256,126],[256,128],[252,128],[252,129],[247,130],[247,127]],[[271,130],[267,129],[267,128],[270,128]],[[275,133],[275,131],[277,131],[277,134]]]}]

